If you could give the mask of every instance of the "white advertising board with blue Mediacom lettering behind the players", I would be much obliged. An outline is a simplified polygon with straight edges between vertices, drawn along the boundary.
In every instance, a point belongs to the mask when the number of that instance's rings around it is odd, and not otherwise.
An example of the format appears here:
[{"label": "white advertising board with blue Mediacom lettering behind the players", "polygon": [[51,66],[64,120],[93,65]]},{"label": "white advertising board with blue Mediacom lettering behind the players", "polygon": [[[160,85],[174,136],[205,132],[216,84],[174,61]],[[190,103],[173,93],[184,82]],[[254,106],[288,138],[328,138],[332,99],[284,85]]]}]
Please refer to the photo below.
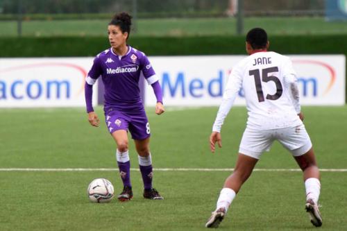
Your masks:
[{"label": "white advertising board with blue Mediacom lettering behind the players", "polygon": [[[289,55],[298,73],[302,105],[344,105],[344,55]],[[232,66],[243,55],[149,57],[164,105],[219,105]],[[93,58],[1,58],[0,108],[85,106],[84,81]],[[145,82],[146,83],[146,82]],[[93,105],[98,89],[94,85]],[[146,85],[145,104],[155,105]],[[235,105],[244,105],[242,92]]]}]

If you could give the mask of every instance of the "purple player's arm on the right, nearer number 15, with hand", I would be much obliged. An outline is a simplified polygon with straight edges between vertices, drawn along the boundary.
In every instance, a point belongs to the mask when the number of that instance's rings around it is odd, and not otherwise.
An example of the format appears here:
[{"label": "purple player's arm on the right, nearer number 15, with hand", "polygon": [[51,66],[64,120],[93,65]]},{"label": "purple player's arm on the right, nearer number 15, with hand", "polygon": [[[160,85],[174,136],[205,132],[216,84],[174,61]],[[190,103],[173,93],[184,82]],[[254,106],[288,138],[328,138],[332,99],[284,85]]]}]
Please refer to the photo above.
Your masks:
[{"label": "purple player's arm on the right, nearer number 15, with hand", "polygon": [[164,105],[162,103],[162,87],[160,87],[159,78],[155,74],[151,62],[144,55],[141,60],[142,73],[147,83],[152,86],[155,97],[157,98],[157,104],[155,105],[155,114],[162,114],[165,112]]}]

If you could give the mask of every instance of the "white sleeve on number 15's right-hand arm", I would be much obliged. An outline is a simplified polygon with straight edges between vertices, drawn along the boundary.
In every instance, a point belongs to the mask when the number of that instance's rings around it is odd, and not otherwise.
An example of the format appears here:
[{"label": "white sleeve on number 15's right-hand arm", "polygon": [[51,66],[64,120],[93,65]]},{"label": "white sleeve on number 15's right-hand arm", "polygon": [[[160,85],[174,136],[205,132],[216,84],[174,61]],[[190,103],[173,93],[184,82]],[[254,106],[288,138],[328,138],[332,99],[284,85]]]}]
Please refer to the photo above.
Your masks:
[{"label": "white sleeve on number 15's right-hand arm", "polygon": [[298,78],[296,77],[296,71],[293,68],[293,64],[289,58],[285,60],[283,65],[283,77],[285,79],[285,85],[289,90],[291,96],[291,102],[293,103],[296,113],[301,112],[300,95],[298,90]]}]

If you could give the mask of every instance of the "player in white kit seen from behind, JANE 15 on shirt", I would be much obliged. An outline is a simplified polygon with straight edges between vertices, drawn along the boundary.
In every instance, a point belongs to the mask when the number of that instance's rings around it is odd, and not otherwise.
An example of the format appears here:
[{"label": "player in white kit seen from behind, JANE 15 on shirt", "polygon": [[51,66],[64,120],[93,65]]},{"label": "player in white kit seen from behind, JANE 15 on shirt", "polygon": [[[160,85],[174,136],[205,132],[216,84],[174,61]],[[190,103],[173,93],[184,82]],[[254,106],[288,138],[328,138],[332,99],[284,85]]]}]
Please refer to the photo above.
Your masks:
[{"label": "player in white kit seen from behind, JANE 15 on shirt", "polygon": [[246,98],[248,120],[235,170],[221,189],[217,208],[205,224],[207,228],[218,227],[237,192],[251,176],[260,156],[269,150],[274,140],[278,140],[291,152],[303,170],[305,209],[314,226],[322,225],[318,209],[321,189],[319,169],[310,137],[303,125],[296,72],[287,56],[267,51],[268,48],[266,31],[253,28],[246,35],[246,51],[249,56],[232,68],[228,78],[210,135],[212,153],[216,142],[221,148],[221,126],[241,88],[244,89]]}]

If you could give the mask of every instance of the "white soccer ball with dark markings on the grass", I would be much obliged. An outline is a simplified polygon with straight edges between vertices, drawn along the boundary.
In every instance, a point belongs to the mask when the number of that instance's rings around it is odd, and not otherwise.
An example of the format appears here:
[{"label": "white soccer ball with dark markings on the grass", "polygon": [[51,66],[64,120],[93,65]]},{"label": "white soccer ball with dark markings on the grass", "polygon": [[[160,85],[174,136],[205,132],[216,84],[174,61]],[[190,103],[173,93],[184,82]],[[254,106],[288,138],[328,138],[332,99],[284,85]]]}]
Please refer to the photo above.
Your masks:
[{"label": "white soccer ball with dark markings on the grass", "polygon": [[87,194],[92,202],[109,202],[115,195],[115,189],[110,181],[104,178],[97,178],[90,182]]}]

